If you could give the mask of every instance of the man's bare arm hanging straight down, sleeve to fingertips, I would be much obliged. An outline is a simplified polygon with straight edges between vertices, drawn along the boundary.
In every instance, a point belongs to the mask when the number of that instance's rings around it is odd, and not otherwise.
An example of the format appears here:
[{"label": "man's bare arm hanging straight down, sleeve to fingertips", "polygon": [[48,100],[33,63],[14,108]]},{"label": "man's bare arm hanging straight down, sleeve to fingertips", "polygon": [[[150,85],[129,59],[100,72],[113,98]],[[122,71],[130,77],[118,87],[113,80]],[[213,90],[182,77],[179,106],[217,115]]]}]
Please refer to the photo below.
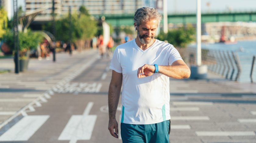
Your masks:
[{"label": "man's bare arm hanging straight down, sleeve to fingertips", "polygon": [[[116,121],[116,109],[120,97],[121,87],[122,87],[122,73],[112,71],[112,79],[108,90],[108,130],[110,134],[118,138],[118,124]],[[115,131],[114,131],[115,129]]]}]

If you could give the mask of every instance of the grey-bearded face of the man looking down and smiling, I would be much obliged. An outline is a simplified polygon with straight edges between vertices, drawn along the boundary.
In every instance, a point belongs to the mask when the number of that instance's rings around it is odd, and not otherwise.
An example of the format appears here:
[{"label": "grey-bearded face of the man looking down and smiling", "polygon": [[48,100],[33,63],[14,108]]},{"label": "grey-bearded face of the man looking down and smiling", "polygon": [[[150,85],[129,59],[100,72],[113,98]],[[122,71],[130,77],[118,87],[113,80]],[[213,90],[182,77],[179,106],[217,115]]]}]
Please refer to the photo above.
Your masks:
[{"label": "grey-bearded face of the man looking down and smiling", "polygon": [[137,26],[137,35],[142,44],[149,44],[155,38],[158,21],[153,19]]}]

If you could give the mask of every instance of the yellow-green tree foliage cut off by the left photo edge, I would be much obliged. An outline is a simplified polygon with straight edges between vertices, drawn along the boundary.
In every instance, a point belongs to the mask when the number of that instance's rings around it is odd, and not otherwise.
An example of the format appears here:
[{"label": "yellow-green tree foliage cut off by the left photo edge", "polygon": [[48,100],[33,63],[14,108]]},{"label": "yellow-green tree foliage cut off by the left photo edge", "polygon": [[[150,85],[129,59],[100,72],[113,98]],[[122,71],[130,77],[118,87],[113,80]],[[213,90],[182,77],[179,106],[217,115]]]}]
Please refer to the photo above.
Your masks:
[{"label": "yellow-green tree foliage cut off by the left photo edge", "polygon": [[0,7],[0,39],[5,34],[8,25],[7,12],[3,7]]}]

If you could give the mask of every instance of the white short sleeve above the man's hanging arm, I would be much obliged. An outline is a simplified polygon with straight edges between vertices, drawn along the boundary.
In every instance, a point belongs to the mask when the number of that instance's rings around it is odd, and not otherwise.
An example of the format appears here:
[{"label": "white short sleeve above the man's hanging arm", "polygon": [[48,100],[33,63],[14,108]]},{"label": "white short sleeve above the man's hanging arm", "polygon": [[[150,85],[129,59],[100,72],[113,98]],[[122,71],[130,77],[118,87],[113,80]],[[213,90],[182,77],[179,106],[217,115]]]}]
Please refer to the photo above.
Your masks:
[{"label": "white short sleeve above the man's hanging arm", "polygon": [[114,51],[114,54],[113,54],[113,57],[112,57],[109,68],[118,72],[118,73],[122,73],[122,67],[121,67],[121,64],[120,64],[120,61],[119,61],[118,47],[116,47],[116,49]]}]

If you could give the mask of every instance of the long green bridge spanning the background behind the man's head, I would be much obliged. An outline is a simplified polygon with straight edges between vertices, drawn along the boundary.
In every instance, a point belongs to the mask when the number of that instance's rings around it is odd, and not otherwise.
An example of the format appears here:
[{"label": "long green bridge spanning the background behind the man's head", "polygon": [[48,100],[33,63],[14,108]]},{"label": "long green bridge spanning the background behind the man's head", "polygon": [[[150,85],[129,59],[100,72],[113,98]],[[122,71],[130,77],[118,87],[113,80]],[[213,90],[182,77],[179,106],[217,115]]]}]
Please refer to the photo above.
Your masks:
[{"label": "long green bridge spanning the background behind the man's head", "polygon": [[[101,17],[98,15],[96,17]],[[104,15],[106,22],[112,26],[133,25],[134,15]],[[202,13],[202,23],[206,22],[256,22],[256,11],[250,12],[223,12],[223,13]],[[169,14],[168,23],[196,23],[196,14]]]}]

